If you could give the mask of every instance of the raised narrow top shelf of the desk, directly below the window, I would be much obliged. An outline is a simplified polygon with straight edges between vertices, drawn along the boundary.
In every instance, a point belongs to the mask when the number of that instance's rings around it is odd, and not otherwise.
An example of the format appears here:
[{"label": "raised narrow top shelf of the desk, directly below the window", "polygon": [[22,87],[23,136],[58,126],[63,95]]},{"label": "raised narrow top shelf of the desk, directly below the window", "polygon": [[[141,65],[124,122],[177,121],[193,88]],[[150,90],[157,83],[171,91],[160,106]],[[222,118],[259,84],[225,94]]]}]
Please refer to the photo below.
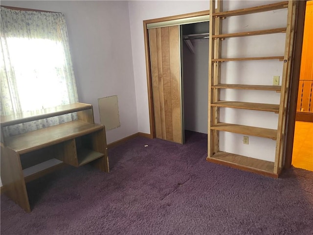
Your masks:
[{"label": "raised narrow top shelf of the desk, directly below the window", "polygon": [[92,105],[84,103],[73,103],[67,105],[56,106],[53,108],[38,110],[34,112],[24,112],[22,114],[14,114],[10,116],[1,116],[1,127],[15,125],[23,122],[39,120],[43,118],[51,118],[64,114],[74,113],[91,109]]}]

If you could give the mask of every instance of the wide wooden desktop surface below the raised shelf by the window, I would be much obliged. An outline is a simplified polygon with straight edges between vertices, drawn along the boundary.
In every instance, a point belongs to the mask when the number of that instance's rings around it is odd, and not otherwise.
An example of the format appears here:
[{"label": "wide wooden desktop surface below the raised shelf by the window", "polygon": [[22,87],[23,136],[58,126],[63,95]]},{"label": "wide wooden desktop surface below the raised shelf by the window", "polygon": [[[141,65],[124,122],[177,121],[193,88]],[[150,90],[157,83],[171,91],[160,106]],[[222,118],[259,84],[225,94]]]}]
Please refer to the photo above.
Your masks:
[{"label": "wide wooden desktop surface below the raised shelf by the window", "polygon": [[53,144],[103,129],[103,125],[75,120],[55,126],[11,136],[6,139],[6,147],[24,154]]}]

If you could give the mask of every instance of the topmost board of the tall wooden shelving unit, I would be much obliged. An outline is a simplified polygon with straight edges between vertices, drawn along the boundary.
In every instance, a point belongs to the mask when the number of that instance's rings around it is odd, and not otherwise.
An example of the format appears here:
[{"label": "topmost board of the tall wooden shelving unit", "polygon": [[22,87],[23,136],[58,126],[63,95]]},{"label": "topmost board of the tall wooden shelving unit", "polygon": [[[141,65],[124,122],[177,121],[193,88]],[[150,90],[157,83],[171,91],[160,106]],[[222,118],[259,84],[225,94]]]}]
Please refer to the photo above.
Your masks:
[{"label": "topmost board of the tall wooden shelving unit", "polygon": [[215,17],[240,16],[240,15],[246,15],[246,14],[252,14],[252,13],[278,10],[278,9],[283,9],[287,7],[288,7],[288,1],[281,1],[281,2],[276,2],[276,3],[262,5],[262,6],[255,6],[255,7],[224,11],[224,12],[216,12],[216,13],[213,13],[212,15],[213,17],[214,16]]}]

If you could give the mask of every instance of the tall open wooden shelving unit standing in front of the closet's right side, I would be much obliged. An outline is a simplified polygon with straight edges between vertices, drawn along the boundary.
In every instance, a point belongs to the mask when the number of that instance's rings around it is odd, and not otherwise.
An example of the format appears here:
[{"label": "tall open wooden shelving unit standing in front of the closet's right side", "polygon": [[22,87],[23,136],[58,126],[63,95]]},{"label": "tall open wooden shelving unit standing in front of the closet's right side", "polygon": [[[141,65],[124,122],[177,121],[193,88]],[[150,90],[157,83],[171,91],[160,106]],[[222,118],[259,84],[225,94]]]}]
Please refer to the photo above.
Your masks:
[{"label": "tall open wooden shelving unit standing in front of the closet's right side", "polygon": [[[289,92],[290,64],[292,55],[292,42],[295,22],[295,9],[297,2],[282,1],[268,5],[237,9],[223,12],[223,1],[210,0],[210,38],[209,38],[209,109],[208,109],[208,157],[207,161],[217,164],[224,164],[234,168],[259,173],[262,175],[277,178],[283,167],[283,149],[287,95]],[[222,34],[222,24],[225,17],[255,14],[265,11],[272,11],[288,8],[286,27],[269,28],[257,31],[224,33]],[[231,19],[229,20],[231,21]],[[284,55],[274,55],[266,57],[241,57],[222,58],[222,42],[231,37],[252,37],[255,35],[286,33]],[[279,60],[283,61],[283,75],[281,86],[268,85],[244,85],[244,84],[222,84],[221,83],[221,63],[228,61],[260,61]],[[280,92],[279,104],[251,103],[239,101],[227,101],[220,99],[221,89],[241,89]],[[248,101],[248,100],[247,100]],[[255,111],[274,112],[278,114],[277,129],[260,128],[255,126],[245,126],[234,123],[220,122],[220,108],[248,109]],[[233,153],[220,151],[219,132],[231,132],[261,138],[268,138],[276,141],[276,152],[273,162],[254,159],[249,156],[241,156]],[[265,146],[266,147],[266,146]]]}]

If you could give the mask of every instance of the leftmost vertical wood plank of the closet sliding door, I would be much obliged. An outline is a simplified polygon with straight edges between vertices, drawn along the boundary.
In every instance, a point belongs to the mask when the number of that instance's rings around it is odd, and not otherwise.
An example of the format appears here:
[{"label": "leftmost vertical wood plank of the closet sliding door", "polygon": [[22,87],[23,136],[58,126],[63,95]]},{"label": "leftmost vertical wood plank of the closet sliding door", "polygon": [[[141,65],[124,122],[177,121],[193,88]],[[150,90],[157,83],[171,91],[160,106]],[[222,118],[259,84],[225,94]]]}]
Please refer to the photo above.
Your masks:
[{"label": "leftmost vertical wood plank of the closet sliding door", "polygon": [[150,50],[151,50],[151,74],[153,85],[153,100],[154,100],[154,117],[156,138],[162,139],[162,125],[161,125],[161,107],[159,97],[159,83],[158,83],[158,61],[157,61],[157,44],[156,44],[156,28],[149,30]]}]

